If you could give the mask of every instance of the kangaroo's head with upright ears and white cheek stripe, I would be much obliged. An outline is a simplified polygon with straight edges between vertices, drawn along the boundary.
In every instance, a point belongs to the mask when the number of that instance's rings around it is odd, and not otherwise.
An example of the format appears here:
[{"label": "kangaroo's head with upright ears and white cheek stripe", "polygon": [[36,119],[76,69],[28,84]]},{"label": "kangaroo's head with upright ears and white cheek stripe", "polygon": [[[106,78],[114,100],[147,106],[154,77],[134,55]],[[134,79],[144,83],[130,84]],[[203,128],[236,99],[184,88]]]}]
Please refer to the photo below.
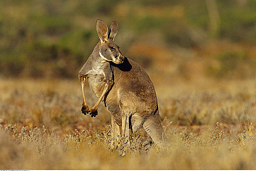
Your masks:
[{"label": "kangaroo's head with upright ears and white cheek stripe", "polygon": [[96,21],[96,30],[100,38],[99,55],[105,61],[111,61],[114,64],[122,64],[124,56],[119,50],[117,44],[114,43],[114,37],[118,31],[116,21],[112,21],[110,29],[108,25],[102,21]]}]

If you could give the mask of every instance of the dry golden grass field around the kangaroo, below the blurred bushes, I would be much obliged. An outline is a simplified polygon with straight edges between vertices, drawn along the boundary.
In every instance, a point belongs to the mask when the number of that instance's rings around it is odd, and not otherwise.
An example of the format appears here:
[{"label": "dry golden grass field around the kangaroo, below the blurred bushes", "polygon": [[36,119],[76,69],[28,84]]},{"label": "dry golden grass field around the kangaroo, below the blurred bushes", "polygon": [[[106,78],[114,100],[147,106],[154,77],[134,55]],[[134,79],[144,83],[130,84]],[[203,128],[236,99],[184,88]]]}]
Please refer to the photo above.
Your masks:
[{"label": "dry golden grass field around the kangaroo, below the blurred bushes", "polygon": [[79,79],[1,79],[0,169],[256,169],[256,80],[149,75],[168,144],[140,129],[125,156],[103,105],[81,113]]}]

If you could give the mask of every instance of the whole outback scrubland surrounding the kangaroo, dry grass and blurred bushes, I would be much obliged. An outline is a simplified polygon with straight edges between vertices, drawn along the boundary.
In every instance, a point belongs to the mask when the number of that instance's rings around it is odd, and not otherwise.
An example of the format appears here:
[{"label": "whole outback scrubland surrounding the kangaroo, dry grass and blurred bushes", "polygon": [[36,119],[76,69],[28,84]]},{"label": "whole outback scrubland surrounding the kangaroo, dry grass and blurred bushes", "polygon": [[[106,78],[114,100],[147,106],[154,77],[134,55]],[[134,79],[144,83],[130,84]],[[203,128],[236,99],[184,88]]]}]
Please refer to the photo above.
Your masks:
[{"label": "whole outback scrubland surrounding the kangaroo, dry grass and blurred bushes", "polygon": [[[256,169],[256,0],[0,0],[0,169]],[[99,38],[154,83],[167,146],[83,115]],[[96,102],[86,85],[89,107]]]}]

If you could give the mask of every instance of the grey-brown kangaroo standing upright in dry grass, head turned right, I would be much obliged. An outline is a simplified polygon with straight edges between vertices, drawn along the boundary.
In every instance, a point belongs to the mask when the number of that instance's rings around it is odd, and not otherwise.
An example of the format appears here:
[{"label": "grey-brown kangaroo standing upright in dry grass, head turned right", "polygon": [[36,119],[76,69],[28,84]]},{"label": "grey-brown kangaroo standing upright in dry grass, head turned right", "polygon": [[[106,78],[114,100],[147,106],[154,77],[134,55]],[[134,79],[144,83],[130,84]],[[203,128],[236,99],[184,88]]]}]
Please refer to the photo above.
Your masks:
[{"label": "grey-brown kangaroo standing upright in dry grass, head turned right", "polygon": [[[141,126],[156,144],[164,142],[154,85],[145,70],[136,62],[122,55],[114,37],[118,31],[116,21],[108,25],[98,19],[96,31],[99,43],[94,47],[86,63],[79,71],[83,93],[82,113],[91,117],[98,115],[97,108],[102,101],[111,114],[114,134],[124,138]],[[98,101],[89,109],[85,102],[85,81]]]}]

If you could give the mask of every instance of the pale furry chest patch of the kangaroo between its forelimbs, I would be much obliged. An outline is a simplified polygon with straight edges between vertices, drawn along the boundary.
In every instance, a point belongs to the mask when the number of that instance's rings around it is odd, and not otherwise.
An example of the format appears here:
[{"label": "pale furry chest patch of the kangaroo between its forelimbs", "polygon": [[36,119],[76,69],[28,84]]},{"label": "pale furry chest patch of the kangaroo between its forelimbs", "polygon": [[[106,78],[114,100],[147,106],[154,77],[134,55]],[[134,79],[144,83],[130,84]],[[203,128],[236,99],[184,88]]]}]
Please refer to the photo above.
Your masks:
[{"label": "pale furry chest patch of the kangaroo between its forelimbs", "polygon": [[105,82],[102,81],[103,78],[104,78],[104,76],[101,74],[95,74],[95,75],[88,76],[88,83],[89,83],[90,89],[95,94],[95,96],[98,98],[101,96],[104,86],[105,86]]}]

